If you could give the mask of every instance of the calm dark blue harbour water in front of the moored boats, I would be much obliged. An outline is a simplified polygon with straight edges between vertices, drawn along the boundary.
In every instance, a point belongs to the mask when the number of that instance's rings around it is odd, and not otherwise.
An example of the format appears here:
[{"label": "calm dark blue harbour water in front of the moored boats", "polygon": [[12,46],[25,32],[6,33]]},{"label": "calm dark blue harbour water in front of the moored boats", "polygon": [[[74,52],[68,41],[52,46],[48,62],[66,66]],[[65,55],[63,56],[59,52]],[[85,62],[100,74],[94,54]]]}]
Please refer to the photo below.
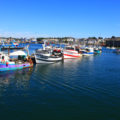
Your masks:
[{"label": "calm dark blue harbour water in front of the moored boats", "polygon": [[120,55],[0,73],[1,120],[120,120]]}]

